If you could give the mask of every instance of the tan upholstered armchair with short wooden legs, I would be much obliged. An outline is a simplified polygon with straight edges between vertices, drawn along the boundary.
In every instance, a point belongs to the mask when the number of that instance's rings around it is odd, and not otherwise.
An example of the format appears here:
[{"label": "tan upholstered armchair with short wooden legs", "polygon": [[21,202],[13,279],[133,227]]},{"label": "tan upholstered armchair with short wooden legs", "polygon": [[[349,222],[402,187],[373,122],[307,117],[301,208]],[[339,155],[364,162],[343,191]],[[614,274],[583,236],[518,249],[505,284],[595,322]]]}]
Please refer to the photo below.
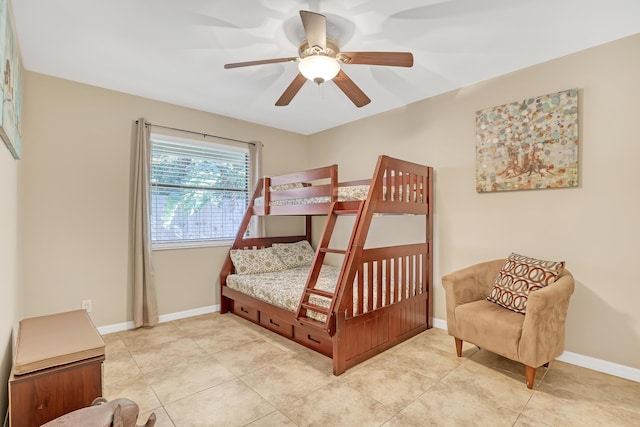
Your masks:
[{"label": "tan upholstered armchair with short wooden legs", "polygon": [[458,357],[467,341],[520,362],[531,389],[536,369],[564,351],[564,324],[575,285],[571,273],[562,269],[549,286],[528,294],[525,314],[512,311],[487,300],[505,261],[483,262],[442,278],[447,329]]}]

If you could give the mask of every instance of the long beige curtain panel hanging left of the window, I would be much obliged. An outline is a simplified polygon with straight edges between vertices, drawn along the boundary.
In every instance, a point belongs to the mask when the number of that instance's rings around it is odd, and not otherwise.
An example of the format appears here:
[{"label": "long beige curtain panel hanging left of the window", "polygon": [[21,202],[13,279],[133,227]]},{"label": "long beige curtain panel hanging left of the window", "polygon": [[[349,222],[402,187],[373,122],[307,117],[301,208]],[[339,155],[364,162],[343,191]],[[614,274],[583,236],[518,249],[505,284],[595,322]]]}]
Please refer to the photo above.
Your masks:
[{"label": "long beige curtain panel hanging left of the window", "polygon": [[149,125],[138,120],[133,186],[133,323],[154,326],[158,323],[158,304],[151,264],[149,230],[151,138]]}]

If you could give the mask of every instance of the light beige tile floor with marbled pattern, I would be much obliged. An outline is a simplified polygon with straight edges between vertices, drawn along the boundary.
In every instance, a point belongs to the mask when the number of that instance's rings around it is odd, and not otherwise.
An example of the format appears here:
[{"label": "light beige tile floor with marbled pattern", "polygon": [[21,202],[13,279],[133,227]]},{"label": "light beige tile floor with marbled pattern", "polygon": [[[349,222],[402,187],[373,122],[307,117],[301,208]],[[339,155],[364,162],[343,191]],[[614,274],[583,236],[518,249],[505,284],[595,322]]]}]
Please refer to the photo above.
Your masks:
[{"label": "light beige tile floor with marbled pattern", "polygon": [[104,394],[165,426],[640,426],[640,383],[521,365],[431,329],[339,377],[331,360],[232,314],[104,336]]}]

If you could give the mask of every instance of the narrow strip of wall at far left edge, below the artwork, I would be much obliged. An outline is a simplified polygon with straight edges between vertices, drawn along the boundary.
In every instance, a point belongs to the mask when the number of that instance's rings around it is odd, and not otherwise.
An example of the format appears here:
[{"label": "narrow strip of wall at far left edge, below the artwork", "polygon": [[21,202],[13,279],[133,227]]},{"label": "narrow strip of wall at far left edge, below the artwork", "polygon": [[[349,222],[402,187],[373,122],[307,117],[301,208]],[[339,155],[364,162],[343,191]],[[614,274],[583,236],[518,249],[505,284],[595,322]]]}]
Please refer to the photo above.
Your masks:
[{"label": "narrow strip of wall at far left edge, below the artwork", "polygon": [[22,313],[19,286],[18,176],[20,162],[0,141],[0,423],[7,411],[13,361],[12,330]]}]

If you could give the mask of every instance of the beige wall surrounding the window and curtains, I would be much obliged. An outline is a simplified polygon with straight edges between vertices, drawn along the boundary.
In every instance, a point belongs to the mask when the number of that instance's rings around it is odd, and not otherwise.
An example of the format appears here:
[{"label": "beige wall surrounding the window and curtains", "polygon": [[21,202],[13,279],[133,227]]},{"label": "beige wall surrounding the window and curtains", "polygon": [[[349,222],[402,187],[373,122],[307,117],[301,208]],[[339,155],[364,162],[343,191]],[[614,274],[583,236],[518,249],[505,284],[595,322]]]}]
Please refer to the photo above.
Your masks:
[{"label": "beige wall surrounding the window and curtains", "polygon": [[[78,309],[91,299],[98,326],[132,319],[127,244],[135,119],[262,141],[265,173],[307,165],[306,138],[298,134],[32,72],[24,87],[25,316]],[[155,251],[160,314],[219,303],[226,253]]]}]

